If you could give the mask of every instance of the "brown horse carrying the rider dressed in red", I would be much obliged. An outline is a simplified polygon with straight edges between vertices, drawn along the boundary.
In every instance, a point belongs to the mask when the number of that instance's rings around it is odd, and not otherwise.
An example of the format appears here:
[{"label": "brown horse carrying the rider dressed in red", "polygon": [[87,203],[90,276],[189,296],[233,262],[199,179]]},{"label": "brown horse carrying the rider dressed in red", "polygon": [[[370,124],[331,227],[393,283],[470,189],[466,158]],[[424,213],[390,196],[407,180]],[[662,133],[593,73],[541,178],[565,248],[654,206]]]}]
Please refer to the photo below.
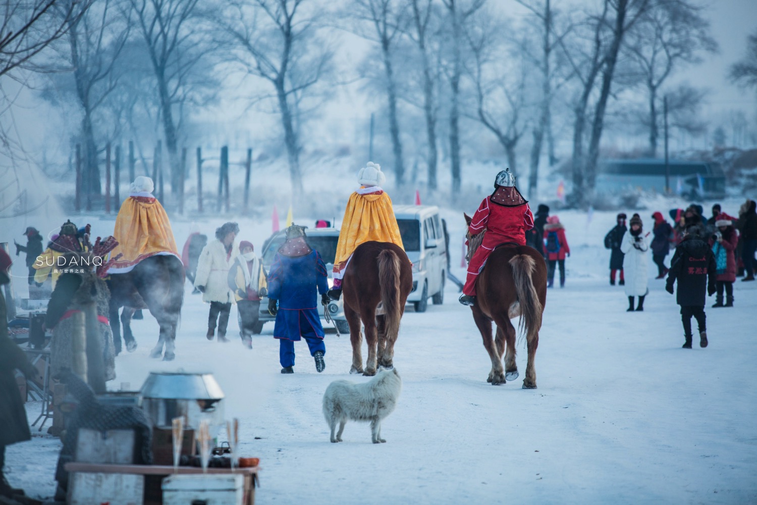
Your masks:
[{"label": "brown horse carrying the rider dressed in red", "polygon": [[[466,216],[470,225],[471,218]],[[484,232],[468,234],[468,258],[481,245]],[[536,388],[534,357],[539,346],[541,314],[547,303],[547,264],[539,252],[528,245],[501,245],[489,254],[486,267],[476,280],[476,304],[471,307],[484,348],[491,357],[491,372],[487,382],[505,384],[518,378],[516,365],[516,329],[510,323],[520,316],[520,329],[525,331],[528,344],[528,364],[525,368],[524,389]],[[497,324],[497,337],[492,339],[491,322]],[[507,344],[505,367],[502,354]]]}]

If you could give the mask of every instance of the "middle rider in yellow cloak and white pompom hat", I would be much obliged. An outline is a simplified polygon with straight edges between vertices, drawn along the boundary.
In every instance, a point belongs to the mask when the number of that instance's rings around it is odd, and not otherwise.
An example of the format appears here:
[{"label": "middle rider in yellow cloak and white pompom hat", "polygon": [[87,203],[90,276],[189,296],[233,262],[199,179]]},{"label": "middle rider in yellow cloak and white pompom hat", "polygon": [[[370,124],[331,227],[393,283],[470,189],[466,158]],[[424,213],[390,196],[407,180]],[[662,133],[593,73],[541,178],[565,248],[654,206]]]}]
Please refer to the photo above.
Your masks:
[{"label": "middle rider in yellow cloak and white pompom hat", "polygon": [[357,174],[357,179],[360,189],[350,195],[341,221],[334,260],[334,286],[329,290],[332,300],[341,296],[341,279],[358,245],[370,241],[391,242],[404,249],[391,198],[381,188],[386,180],[381,167],[369,162]]}]

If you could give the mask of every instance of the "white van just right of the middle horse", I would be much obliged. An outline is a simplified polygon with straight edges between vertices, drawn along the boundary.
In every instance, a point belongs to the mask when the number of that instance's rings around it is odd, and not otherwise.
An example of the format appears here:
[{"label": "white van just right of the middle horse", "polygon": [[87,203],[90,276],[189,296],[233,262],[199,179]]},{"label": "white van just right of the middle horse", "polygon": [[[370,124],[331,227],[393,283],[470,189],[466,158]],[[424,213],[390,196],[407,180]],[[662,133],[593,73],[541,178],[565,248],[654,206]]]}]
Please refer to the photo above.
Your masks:
[{"label": "white van just right of the middle horse", "polygon": [[425,312],[428,298],[435,305],[444,303],[447,280],[447,241],[435,205],[394,205],[402,244],[413,262],[413,291],[407,297],[416,312]]}]

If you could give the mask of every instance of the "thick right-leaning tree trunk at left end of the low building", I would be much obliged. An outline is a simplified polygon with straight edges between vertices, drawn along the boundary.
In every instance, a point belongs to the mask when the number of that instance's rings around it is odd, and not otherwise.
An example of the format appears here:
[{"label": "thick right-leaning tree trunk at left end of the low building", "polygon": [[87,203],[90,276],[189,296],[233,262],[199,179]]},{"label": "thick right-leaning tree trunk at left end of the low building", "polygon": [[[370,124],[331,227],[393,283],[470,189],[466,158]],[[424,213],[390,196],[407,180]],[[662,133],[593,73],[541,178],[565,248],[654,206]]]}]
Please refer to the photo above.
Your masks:
[{"label": "thick right-leaning tree trunk at left end of the low building", "polygon": [[587,201],[593,201],[594,188],[597,184],[597,162],[600,157],[600,141],[604,129],[605,111],[607,100],[610,95],[612,78],[615,74],[615,63],[618,61],[618,51],[620,50],[623,36],[625,35],[625,15],[628,10],[628,0],[618,0],[617,16],[615,17],[615,28],[613,30],[612,43],[606,55],[605,70],[602,76],[602,89],[600,89],[600,99],[597,101],[597,108],[594,109],[594,120],[591,128],[591,140],[589,142],[589,155],[586,164],[586,188]]}]

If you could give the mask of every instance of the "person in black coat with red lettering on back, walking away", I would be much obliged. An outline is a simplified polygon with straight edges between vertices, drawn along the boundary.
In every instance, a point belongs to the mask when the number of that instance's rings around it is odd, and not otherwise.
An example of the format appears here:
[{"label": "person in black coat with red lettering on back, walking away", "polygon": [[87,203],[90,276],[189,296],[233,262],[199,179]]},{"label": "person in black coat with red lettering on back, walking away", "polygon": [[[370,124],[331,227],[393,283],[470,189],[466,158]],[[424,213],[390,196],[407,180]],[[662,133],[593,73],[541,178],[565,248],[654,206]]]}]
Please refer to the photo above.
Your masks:
[{"label": "person in black coat with red lettering on back, walking away", "polygon": [[675,248],[665,285],[665,290],[672,295],[673,283],[678,279],[676,302],[681,305],[686,338],[682,346],[684,349],[691,348],[691,316],[699,325],[699,347],[707,347],[705,294],[715,294],[715,256],[699,231],[699,226],[687,226],[681,244]]}]

